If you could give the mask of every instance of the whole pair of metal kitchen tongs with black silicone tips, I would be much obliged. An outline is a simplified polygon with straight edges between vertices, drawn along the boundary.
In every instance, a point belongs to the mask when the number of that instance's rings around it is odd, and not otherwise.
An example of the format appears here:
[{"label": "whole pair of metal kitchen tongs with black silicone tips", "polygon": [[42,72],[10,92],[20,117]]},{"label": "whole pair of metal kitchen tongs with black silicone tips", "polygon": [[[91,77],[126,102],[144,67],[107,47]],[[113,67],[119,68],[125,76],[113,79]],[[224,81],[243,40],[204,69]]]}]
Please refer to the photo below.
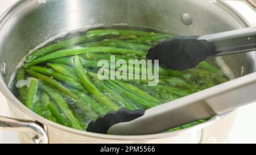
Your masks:
[{"label": "whole pair of metal kitchen tongs with black silicone tips", "polygon": [[[256,27],[201,37],[178,37],[173,40],[181,40],[182,43],[185,43],[184,40],[188,40],[189,44],[196,43],[196,45],[203,46],[199,47],[199,49],[203,50],[200,51],[203,56],[197,59],[198,62],[181,62],[187,64],[185,68],[189,68],[203,61],[208,56],[221,56],[255,50]],[[158,49],[163,49],[163,45],[166,45],[168,48],[168,44],[173,40],[166,40],[156,45],[156,47],[148,51],[148,55],[150,55],[152,51],[160,52]],[[195,40],[199,40],[199,42],[195,42]],[[173,48],[174,46],[172,45],[170,47]],[[208,52],[207,55],[204,55],[204,50]],[[190,51],[193,50],[190,49]],[[172,51],[166,49],[163,52],[165,57],[168,52]],[[195,55],[199,55],[200,52],[187,53],[187,58],[190,56],[190,60],[188,61],[192,61],[191,57],[192,59],[193,57],[195,58]],[[157,55],[151,56],[157,57]],[[170,63],[170,61],[167,62],[167,60],[163,62]],[[211,87],[207,90],[188,95],[187,97],[169,103],[161,104],[146,111],[129,111],[125,109],[112,111],[90,122],[87,131],[112,135],[147,135],[160,133],[167,129],[191,123],[196,120],[224,114],[225,112],[232,111],[256,100],[256,73],[234,79],[232,84],[233,85],[231,85],[231,82],[222,83],[221,85]]]}]

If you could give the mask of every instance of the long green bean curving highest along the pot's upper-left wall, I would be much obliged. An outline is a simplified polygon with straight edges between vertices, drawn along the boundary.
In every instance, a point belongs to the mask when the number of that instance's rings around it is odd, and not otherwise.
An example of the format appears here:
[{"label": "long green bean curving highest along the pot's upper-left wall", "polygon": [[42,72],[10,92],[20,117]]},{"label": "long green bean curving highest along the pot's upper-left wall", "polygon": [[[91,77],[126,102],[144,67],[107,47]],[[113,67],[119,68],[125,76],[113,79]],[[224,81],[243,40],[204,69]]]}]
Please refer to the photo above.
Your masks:
[{"label": "long green bean curving highest along the pot's upper-left wall", "polygon": [[31,53],[25,58],[25,62],[30,62],[35,58],[57,51],[62,48],[67,48],[72,45],[76,45],[76,44],[84,43],[85,41],[92,41],[92,40],[94,40],[94,38],[88,38],[87,36],[79,36],[79,37],[74,37],[72,39],[60,41],[59,43],[52,44],[47,47],[43,47]]}]

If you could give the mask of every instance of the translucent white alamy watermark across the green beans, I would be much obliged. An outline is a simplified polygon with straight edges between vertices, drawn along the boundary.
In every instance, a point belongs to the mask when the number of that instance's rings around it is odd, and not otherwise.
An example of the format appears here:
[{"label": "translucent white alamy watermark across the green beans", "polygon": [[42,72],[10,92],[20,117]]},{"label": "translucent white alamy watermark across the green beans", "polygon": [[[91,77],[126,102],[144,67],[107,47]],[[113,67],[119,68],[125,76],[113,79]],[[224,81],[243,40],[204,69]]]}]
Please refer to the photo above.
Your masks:
[{"label": "translucent white alamy watermark across the green beans", "polygon": [[159,83],[159,60],[115,60],[111,55],[110,60],[98,61],[98,79],[118,80],[145,80],[148,86]]}]

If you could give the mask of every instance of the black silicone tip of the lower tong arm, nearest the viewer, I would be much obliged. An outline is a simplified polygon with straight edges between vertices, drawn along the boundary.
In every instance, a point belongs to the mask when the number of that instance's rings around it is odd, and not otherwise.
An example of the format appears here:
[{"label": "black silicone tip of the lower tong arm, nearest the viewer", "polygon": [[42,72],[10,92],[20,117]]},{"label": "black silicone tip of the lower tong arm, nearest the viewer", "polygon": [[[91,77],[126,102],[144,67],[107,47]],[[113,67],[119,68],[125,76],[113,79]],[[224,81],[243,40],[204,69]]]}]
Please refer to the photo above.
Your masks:
[{"label": "black silicone tip of the lower tong arm, nearest the viewer", "polygon": [[108,133],[109,128],[114,124],[130,122],[131,120],[143,116],[144,113],[144,110],[130,111],[125,108],[121,108],[118,111],[110,111],[108,114],[101,115],[96,120],[92,120],[86,130],[88,132],[106,134]]}]

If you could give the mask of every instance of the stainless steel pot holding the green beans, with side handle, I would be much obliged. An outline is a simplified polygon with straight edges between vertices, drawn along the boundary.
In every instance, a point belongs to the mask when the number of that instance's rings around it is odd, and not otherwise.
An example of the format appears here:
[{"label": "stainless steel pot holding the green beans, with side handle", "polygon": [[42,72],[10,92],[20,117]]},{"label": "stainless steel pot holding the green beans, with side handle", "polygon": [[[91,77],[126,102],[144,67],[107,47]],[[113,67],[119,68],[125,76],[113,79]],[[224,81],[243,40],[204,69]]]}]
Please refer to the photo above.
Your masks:
[{"label": "stainless steel pot holding the green beans, with side handle", "polygon": [[[127,24],[180,35],[205,35],[249,26],[226,3],[214,0],[19,1],[0,18],[0,88],[8,100],[11,115],[19,120],[0,117],[0,129],[18,130],[23,143],[224,142],[234,121],[234,111],[216,116],[195,127],[171,133],[144,136],[101,135],[49,122],[23,106],[8,89],[7,83],[10,82],[19,60],[44,41],[63,32]],[[225,62],[222,63],[225,69],[230,68],[234,77],[255,70],[254,52],[218,58],[217,62],[221,61]],[[214,90],[218,90],[216,87]],[[200,95],[203,92],[196,95],[202,97]]]}]

